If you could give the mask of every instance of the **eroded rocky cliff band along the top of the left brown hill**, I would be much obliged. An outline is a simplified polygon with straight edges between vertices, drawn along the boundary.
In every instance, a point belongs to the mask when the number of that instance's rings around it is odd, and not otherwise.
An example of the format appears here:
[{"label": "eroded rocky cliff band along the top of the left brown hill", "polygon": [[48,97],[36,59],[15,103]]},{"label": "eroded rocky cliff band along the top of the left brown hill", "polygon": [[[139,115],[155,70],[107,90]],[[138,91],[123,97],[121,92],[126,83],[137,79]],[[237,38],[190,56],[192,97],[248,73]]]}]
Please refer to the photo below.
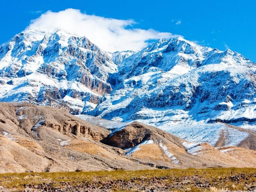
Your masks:
[{"label": "eroded rocky cliff band along the top of the left brown hill", "polygon": [[[10,106],[13,107],[12,105]],[[100,129],[92,124],[84,124],[79,118],[74,118],[71,115],[67,118],[67,114],[60,115],[59,110],[56,108],[51,108],[51,113],[47,111],[47,108],[35,107],[28,103],[17,103],[15,108],[19,127],[29,134],[36,132],[40,126],[49,127],[62,134],[71,133],[76,136],[92,138],[93,140],[101,140],[109,134],[107,130]],[[65,113],[68,112],[65,108],[62,108],[62,110],[66,110]]]}]

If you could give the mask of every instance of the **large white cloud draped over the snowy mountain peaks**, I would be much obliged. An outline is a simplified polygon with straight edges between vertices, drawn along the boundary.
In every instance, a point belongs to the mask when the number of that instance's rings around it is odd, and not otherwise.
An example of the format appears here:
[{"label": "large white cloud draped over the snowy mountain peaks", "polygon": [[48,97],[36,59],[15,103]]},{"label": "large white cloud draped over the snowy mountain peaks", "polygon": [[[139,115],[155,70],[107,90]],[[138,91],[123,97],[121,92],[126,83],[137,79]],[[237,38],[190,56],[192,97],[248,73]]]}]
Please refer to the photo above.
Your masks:
[{"label": "large white cloud draped over the snowy mountain peaks", "polygon": [[52,31],[61,28],[79,36],[86,36],[94,44],[109,52],[137,51],[146,47],[148,40],[179,36],[153,29],[134,28],[135,24],[134,20],[105,18],[87,15],[76,9],[66,9],[60,12],[47,11],[32,20],[27,29],[43,28]]}]

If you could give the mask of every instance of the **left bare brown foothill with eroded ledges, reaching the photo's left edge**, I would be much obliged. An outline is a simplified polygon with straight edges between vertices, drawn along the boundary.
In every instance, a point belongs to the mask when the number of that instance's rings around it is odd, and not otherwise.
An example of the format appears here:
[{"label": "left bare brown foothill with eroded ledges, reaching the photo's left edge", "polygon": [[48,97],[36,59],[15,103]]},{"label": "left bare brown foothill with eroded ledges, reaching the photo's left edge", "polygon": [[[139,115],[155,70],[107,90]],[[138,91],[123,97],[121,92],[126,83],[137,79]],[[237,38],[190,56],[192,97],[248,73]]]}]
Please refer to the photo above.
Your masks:
[{"label": "left bare brown foothill with eroded ledges, reaching the photo's left edge", "polygon": [[[109,131],[65,109],[0,103],[0,172],[150,168],[99,142]],[[121,155],[120,155],[121,154]]]}]

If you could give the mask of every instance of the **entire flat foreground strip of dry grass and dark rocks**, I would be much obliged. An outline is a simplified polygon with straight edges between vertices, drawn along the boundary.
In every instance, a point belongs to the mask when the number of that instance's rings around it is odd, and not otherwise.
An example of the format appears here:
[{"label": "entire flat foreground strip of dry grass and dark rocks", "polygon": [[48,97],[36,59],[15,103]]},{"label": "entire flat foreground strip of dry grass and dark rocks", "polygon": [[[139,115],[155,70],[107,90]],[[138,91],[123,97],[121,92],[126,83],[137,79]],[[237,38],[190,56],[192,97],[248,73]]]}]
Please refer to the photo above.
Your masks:
[{"label": "entire flat foreground strip of dry grass and dark rocks", "polygon": [[254,191],[256,169],[5,173],[0,186],[2,191]]}]

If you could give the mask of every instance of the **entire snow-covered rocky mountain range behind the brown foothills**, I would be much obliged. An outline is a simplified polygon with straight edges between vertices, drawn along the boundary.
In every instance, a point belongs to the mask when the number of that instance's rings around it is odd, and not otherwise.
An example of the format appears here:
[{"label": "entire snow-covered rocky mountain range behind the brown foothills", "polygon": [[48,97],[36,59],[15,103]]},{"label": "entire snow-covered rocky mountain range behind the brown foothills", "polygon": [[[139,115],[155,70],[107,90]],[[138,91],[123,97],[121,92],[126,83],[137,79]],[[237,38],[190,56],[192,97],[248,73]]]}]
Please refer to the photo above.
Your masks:
[{"label": "entire snow-covered rocky mountain range behind the brown foothills", "polygon": [[[256,124],[256,65],[181,37],[108,53],[86,37],[30,29],[0,47],[0,101],[64,105],[193,142],[236,145]],[[226,123],[226,124],[224,124]]]}]

